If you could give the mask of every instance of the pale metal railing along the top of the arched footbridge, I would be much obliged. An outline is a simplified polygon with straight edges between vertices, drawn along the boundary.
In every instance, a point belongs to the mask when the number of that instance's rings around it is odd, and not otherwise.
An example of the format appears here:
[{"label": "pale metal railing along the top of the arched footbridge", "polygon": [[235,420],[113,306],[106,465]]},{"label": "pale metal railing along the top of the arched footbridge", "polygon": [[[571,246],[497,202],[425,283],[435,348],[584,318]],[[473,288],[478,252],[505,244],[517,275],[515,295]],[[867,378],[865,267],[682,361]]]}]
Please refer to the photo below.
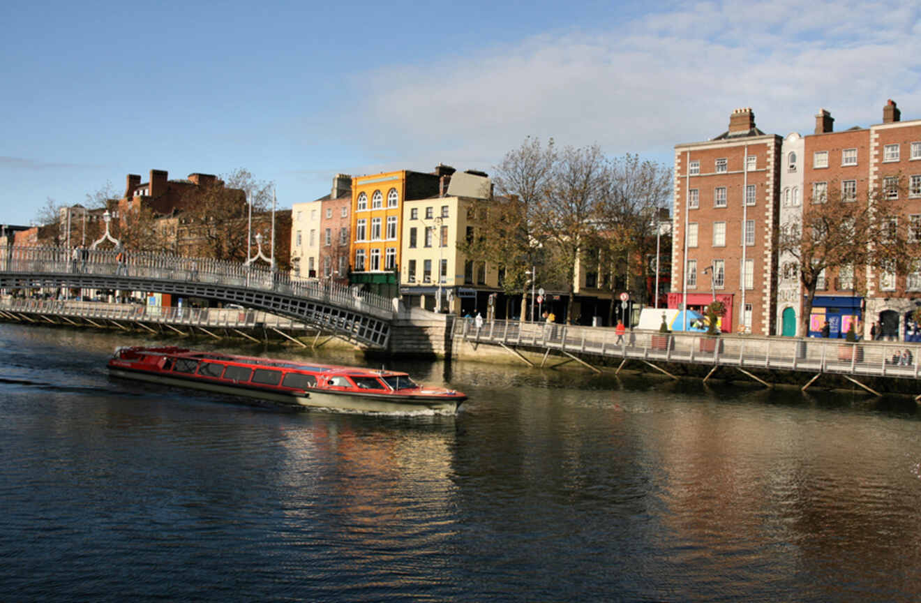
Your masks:
[{"label": "pale metal railing along the top of the arched footbridge", "polygon": [[375,310],[392,315],[390,298],[332,281],[300,278],[265,266],[211,260],[146,251],[128,251],[123,261],[115,249],[66,249],[64,247],[11,246],[0,251],[3,273],[84,273],[123,275],[157,280],[213,283],[306,297],[359,311]]}]

